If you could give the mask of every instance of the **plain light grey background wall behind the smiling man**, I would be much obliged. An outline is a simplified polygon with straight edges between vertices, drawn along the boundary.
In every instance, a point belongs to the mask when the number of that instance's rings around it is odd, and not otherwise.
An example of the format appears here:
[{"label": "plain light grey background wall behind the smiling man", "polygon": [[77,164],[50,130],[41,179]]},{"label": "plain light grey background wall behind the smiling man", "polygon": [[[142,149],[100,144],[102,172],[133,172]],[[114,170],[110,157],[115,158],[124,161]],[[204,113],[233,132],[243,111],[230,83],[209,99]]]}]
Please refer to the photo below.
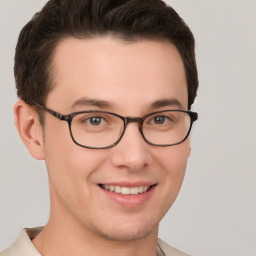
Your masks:
[{"label": "plain light grey background wall behind the smiling man", "polygon": [[[49,213],[47,176],[20,141],[13,57],[46,0],[0,0],[0,251]],[[197,256],[256,255],[256,1],[170,0],[197,41],[200,89],[192,155],[159,236]]]}]

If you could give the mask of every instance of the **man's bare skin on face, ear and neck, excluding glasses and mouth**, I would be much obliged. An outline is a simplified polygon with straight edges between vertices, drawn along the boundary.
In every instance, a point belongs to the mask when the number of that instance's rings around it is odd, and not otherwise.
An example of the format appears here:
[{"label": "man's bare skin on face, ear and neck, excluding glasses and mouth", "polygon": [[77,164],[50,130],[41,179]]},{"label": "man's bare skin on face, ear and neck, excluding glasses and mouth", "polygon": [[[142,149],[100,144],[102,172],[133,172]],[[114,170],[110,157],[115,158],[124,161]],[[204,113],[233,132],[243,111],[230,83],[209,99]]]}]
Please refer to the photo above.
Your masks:
[{"label": "man's bare skin on face, ear and neck, excluding glasses and mouth", "polygon": [[[183,63],[169,42],[66,38],[56,48],[53,67],[55,86],[46,106],[62,114],[105,110],[141,117],[187,109]],[[74,106],[81,98],[104,100],[108,106]],[[175,99],[181,106],[152,106],[164,99]],[[189,140],[152,146],[143,140],[138,124],[130,123],[115,147],[86,149],[72,141],[66,122],[49,113],[42,128],[34,108],[23,101],[14,112],[23,142],[34,158],[45,160],[49,175],[50,217],[33,240],[38,251],[47,256],[156,255],[158,224],[180,190]],[[112,200],[99,187],[122,182],[155,186],[136,206]]]}]

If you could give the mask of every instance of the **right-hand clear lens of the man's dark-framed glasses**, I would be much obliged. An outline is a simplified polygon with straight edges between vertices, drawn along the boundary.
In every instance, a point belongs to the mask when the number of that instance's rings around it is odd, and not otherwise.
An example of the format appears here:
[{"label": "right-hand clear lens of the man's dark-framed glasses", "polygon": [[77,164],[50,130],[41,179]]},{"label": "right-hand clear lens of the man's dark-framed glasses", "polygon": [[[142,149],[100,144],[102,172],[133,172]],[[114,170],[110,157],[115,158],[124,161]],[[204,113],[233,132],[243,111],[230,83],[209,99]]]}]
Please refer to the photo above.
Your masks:
[{"label": "right-hand clear lens of the man's dark-framed glasses", "polygon": [[142,131],[146,140],[157,145],[182,142],[190,129],[190,116],[181,111],[165,111],[148,116]]}]

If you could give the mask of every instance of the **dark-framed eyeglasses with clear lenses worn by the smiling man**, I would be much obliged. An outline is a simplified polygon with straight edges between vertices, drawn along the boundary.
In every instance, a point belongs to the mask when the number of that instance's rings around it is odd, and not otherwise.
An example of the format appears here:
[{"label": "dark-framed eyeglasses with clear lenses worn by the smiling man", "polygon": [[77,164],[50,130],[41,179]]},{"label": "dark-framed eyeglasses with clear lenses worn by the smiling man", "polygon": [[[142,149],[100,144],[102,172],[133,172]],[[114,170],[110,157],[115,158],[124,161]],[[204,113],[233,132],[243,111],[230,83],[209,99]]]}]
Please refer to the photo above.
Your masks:
[{"label": "dark-framed eyeglasses with clear lenses worn by the smiling man", "polygon": [[75,144],[91,149],[106,149],[115,146],[124,135],[129,123],[137,122],[144,140],[154,146],[174,146],[184,142],[197,120],[196,112],[163,110],[143,117],[124,117],[106,111],[79,111],[62,115],[34,103],[56,118],[68,122]]}]

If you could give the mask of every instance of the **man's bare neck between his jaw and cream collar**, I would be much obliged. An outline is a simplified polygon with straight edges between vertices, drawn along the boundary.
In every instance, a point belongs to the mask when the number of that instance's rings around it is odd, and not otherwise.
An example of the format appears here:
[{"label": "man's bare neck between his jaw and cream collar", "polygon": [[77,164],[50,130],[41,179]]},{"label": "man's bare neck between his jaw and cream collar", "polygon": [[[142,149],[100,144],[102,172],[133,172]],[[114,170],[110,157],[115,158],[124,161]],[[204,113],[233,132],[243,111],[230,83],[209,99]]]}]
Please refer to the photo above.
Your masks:
[{"label": "man's bare neck between his jaw and cream collar", "polygon": [[[157,256],[156,226],[140,239],[113,240],[90,230],[68,214],[51,213],[43,231],[33,240],[44,256]],[[61,213],[61,214],[60,214]]]}]

